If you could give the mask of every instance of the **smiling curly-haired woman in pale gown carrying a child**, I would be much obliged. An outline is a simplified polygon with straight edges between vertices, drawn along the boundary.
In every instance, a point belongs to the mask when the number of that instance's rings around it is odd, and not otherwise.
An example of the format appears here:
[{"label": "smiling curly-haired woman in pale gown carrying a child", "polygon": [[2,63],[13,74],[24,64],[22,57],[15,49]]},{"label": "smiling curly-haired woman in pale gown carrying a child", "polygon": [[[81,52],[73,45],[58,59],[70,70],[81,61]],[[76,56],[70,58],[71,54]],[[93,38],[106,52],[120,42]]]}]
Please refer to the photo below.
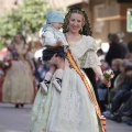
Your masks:
[{"label": "smiling curly-haired woman in pale gown carrying a child", "polygon": [[[66,54],[62,92],[58,94],[53,84],[50,85],[46,96],[38,90],[32,112],[31,132],[105,132],[92,86],[79,68],[91,67],[109,86],[103,79],[100,62],[95,53],[95,40],[79,32],[82,28],[89,35],[91,32],[88,26],[84,11],[69,10],[65,18],[64,31],[72,53],[68,51]],[[59,56],[56,54],[52,55],[50,64],[59,63]]]}]

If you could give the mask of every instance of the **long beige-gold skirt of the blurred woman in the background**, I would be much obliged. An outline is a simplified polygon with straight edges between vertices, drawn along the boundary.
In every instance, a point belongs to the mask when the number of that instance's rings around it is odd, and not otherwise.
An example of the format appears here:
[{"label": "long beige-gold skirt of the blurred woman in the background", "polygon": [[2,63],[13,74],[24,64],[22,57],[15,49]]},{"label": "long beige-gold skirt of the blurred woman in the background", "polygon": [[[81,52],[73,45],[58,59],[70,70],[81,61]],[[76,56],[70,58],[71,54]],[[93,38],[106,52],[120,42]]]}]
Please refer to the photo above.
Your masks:
[{"label": "long beige-gold skirt of the blurred woman in the background", "polygon": [[33,98],[33,75],[29,63],[12,61],[2,86],[2,102],[32,103]]}]

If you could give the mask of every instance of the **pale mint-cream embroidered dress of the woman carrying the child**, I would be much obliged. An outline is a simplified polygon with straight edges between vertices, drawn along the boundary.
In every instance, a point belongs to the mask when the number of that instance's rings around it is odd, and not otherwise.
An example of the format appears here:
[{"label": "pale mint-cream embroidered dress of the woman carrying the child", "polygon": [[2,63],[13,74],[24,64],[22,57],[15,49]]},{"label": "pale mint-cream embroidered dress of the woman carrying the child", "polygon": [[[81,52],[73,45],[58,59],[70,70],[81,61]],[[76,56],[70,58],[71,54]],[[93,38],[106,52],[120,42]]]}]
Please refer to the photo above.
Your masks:
[{"label": "pale mint-cream embroidered dress of the woman carrying the child", "polygon": [[[100,65],[92,37],[82,35],[78,42],[69,43],[69,48],[81,68]],[[72,64],[69,54],[67,58],[62,92],[57,92],[51,84],[48,95],[43,95],[41,89],[36,95],[32,110],[31,132],[102,132],[99,121],[100,111],[97,106],[95,107],[96,100],[94,102],[91,99],[95,99],[92,86],[85,73],[75,66],[76,63]],[[73,68],[69,65],[73,65]],[[84,80],[88,82],[91,95]]]}]

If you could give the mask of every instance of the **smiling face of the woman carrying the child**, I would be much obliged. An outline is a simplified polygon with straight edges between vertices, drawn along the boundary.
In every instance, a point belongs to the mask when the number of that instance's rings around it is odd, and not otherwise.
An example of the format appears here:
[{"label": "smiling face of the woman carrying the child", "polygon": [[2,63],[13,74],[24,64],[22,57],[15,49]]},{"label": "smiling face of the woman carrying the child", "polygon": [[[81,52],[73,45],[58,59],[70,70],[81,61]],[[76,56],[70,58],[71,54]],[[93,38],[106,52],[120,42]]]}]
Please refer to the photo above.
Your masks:
[{"label": "smiling face of the woman carrying the child", "polygon": [[84,16],[78,13],[72,13],[69,16],[68,30],[72,33],[78,33],[84,25]]}]

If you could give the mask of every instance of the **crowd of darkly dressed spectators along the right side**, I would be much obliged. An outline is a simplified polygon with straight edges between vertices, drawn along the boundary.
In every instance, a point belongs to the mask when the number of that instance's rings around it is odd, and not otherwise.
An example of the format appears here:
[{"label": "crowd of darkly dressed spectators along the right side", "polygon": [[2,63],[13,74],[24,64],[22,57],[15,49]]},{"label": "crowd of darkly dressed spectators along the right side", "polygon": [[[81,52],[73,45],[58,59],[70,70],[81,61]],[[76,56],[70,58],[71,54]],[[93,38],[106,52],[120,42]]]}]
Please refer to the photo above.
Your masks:
[{"label": "crowd of darkly dressed spectators along the right side", "polygon": [[97,53],[102,70],[111,68],[114,77],[110,88],[97,79],[99,106],[106,118],[132,125],[132,42],[124,44],[118,34],[108,36],[108,53],[101,50]]}]

